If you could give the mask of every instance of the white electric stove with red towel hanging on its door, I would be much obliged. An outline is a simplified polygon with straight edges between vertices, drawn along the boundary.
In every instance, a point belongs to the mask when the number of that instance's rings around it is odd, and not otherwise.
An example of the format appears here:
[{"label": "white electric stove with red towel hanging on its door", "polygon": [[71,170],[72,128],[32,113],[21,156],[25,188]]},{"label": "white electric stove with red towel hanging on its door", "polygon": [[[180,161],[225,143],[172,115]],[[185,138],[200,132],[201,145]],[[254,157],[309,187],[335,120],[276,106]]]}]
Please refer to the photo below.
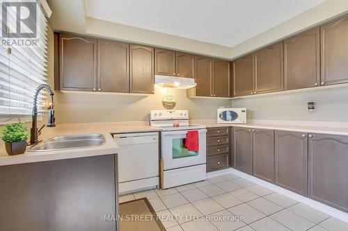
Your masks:
[{"label": "white electric stove with red towel hanging on its door", "polygon": [[[189,124],[187,110],[152,110],[150,126],[161,128],[161,187],[167,189],[206,179],[205,126]],[[188,130],[198,131],[198,151],[184,146]]]}]

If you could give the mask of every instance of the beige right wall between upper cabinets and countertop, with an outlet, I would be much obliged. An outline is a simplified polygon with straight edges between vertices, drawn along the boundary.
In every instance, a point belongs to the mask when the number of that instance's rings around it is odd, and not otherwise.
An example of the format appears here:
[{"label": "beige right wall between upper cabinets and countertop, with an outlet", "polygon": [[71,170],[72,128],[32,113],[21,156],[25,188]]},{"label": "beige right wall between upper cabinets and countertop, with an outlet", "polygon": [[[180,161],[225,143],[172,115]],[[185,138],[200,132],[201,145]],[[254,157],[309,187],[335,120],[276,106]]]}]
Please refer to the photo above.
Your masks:
[{"label": "beige right wall between upper cabinets and countertop, with an outlet", "polygon": [[[312,101],[314,112],[307,109]],[[232,107],[246,107],[248,119],[348,122],[348,87],[233,99]]]}]

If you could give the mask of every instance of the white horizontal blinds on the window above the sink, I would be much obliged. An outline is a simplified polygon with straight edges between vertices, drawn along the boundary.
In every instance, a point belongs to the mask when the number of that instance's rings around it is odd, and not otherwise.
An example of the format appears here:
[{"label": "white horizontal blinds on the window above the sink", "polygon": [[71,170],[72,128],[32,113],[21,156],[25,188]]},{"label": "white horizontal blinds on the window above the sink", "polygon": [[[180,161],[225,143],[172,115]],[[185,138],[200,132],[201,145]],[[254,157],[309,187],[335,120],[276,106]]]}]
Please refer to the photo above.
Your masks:
[{"label": "white horizontal blinds on the window above the sink", "polygon": [[[8,1],[0,1],[1,5]],[[18,1],[17,1],[18,2]],[[28,0],[26,0],[28,2]],[[1,7],[1,44],[0,44],[0,114],[31,114],[33,96],[38,85],[47,80],[47,19],[40,6],[29,7],[35,13],[35,19],[26,21],[36,29],[35,37],[22,37],[21,33],[31,30],[24,24],[17,28],[16,19],[26,18],[28,10],[18,10],[16,6]],[[3,15],[6,14],[6,26]],[[23,28],[22,28],[23,27]],[[30,26],[29,26],[30,27]],[[5,33],[15,33],[15,37]],[[39,111],[45,107],[44,94],[39,96]]]}]

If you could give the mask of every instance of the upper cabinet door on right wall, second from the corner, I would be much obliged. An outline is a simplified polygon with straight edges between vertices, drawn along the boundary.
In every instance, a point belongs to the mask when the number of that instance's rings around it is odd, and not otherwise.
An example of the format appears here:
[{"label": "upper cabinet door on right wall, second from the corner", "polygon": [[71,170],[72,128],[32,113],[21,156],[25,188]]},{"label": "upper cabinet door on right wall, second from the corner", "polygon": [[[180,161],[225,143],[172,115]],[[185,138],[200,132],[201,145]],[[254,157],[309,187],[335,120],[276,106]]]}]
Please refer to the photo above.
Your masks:
[{"label": "upper cabinet door on right wall, second from the corner", "polygon": [[279,92],[283,86],[283,42],[255,52],[254,94]]}]

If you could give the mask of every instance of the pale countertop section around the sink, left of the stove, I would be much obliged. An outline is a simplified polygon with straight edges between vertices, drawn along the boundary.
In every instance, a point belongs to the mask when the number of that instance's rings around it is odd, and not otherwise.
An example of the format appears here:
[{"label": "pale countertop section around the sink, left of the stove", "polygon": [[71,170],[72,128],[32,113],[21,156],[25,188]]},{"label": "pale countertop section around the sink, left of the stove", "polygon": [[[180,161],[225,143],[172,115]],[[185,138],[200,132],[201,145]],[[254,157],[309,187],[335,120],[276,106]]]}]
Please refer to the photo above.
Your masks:
[{"label": "pale countertop section around the sink, left of the stove", "polygon": [[22,155],[8,155],[5,150],[0,152],[0,166],[9,164],[23,164],[49,160],[63,160],[95,155],[118,153],[118,145],[113,141],[111,134],[123,132],[158,132],[160,128],[153,128],[143,122],[132,123],[72,123],[61,124],[55,128],[44,128],[39,139],[46,140],[57,135],[76,135],[100,133],[105,137],[105,143],[90,148],[74,148],[61,151],[26,151]]}]

